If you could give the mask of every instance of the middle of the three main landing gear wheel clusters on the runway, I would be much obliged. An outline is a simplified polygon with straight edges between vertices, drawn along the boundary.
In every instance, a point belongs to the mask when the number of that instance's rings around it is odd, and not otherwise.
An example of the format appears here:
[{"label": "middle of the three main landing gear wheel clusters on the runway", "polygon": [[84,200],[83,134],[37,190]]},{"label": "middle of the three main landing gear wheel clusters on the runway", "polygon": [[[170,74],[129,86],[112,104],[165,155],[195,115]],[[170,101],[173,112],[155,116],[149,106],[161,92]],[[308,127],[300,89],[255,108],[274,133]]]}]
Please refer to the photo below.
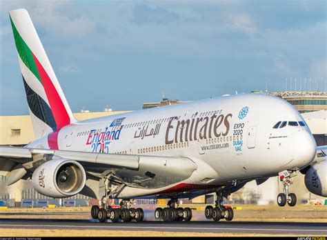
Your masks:
[{"label": "middle of the three main landing gear wheel clusters on the runway", "polygon": [[190,208],[179,208],[178,200],[171,199],[167,204],[168,208],[156,208],[155,219],[164,221],[190,221],[192,210]]}]

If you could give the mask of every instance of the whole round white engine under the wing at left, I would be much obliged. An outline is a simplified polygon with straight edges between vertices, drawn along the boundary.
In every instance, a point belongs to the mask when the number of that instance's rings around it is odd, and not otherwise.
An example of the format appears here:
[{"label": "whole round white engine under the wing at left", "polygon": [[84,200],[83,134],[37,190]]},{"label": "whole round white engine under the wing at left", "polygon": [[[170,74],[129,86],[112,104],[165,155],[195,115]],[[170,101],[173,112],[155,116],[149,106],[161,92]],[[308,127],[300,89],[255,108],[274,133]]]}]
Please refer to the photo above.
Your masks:
[{"label": "whole round white engine under the wing at left", "polygon": [[71,197],[85,186],[86,173],[77,161],[55,159],[39,166],[32,175],[37,192],[48,197]]}]

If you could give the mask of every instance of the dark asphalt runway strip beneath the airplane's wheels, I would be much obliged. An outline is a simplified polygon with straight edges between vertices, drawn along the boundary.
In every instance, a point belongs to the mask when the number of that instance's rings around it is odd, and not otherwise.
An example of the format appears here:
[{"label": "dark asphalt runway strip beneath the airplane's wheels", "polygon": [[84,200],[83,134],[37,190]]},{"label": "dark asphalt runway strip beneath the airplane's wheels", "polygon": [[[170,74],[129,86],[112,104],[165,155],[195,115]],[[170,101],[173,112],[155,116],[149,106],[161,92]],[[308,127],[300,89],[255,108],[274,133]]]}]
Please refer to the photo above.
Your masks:
[{"label": "dark asphalt runway strip beneath the airplane's wheels", "polygon": [[84,229],[161,232],[235,232],[259,234],[327,235],[327,223],[253,222],[253,221],[143,221],[99,223],[93,219],[0,219],[0,228]]}]

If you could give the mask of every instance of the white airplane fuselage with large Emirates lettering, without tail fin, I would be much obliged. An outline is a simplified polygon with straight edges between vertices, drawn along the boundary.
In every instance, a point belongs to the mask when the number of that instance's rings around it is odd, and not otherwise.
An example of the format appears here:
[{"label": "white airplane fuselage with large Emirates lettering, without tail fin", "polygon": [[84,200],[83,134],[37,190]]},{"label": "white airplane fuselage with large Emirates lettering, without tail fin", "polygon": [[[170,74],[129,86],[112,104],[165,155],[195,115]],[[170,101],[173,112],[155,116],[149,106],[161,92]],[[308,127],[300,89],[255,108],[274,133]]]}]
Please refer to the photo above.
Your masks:
[{"label": "white airplane fuselage with large Emirates lettering, without tail fin", "polygon": [[[28,147],[187,157],[196,163],[197,170],[179,186],[219,186],[303,168],[314,159],[316,146],[309,128],[288,124],[273,128],[279,121],[304,119],[277,97],[239,94],[79,121]],[[173,187],[126,188],[121,197],[155,194]]]}]

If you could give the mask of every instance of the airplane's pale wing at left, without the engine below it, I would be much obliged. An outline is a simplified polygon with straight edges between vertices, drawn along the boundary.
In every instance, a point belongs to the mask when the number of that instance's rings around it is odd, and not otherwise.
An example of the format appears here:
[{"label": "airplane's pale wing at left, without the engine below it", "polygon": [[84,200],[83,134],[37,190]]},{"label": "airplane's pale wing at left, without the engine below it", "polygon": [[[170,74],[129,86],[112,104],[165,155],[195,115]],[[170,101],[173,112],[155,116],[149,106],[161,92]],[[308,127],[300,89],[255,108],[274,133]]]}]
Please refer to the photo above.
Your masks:
[{"label": "airplane's pale wing at left, without the engine below it", "polygon": [[159,188],[190,177],[197,165],[187,157],[158,157],[135,154],[104,154],[38,148],[0,146],[0,174],[10,177],[9,185],[28,179],[41,164],[52,159],[81,163],[91,177],[114,173],[130,186]]}]

